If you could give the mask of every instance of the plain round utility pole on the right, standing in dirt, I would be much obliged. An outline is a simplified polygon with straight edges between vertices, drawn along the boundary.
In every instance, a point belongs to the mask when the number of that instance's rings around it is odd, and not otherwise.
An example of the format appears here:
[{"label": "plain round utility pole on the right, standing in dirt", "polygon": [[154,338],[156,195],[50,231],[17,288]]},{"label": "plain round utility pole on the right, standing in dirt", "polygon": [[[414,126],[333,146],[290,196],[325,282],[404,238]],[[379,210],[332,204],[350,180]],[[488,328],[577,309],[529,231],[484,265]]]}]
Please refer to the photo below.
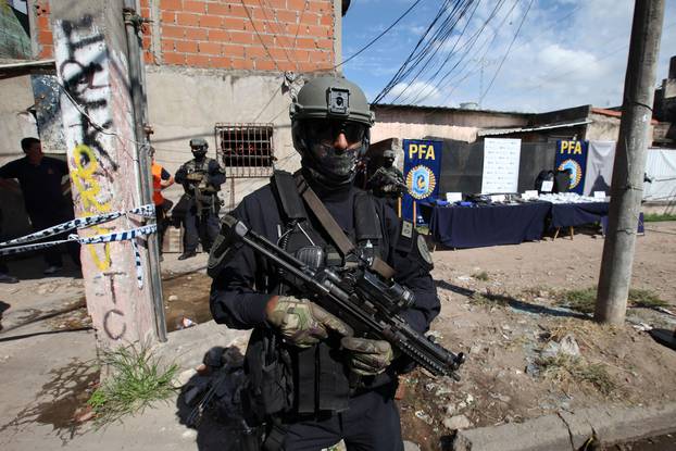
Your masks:
[{"label": "plain round utility pole on the right, standing in dirt", "polygon": [[623,324],[631,283],[664,0],[637,0],[594,320]]}]

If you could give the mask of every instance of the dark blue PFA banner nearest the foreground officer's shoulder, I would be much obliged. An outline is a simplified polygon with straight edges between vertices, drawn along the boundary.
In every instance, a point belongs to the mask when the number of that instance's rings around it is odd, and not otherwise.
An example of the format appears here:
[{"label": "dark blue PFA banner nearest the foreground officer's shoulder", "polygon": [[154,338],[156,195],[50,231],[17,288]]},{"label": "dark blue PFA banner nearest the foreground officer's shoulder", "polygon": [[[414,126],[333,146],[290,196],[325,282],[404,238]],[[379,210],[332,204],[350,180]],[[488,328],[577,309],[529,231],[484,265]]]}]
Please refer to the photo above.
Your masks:
[{"label": "dark blue PFA banner nearest the foreground officer's shoulder", "polygon": [[[401,209],[403,218],[413,221],[414,202],[429,201],[438,197],[442,150],[442,141],[403,140],[403,175],[408,187]],[[415,210],[420,216],[420,210]]]}]

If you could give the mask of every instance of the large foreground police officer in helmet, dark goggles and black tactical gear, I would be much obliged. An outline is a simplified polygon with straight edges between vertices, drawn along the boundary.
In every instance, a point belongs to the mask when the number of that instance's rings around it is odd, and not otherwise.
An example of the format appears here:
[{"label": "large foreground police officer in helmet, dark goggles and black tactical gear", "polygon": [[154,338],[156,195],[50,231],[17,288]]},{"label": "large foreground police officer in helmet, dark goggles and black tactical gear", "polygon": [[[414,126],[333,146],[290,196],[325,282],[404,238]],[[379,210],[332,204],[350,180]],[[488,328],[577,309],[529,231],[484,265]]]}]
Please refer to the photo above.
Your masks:
[{"label": "large foreground police officer in helmet, dark goggles and black tactical gear", "polygon": [[[301,170],[275,172],[233,215],[299,259],[346,274],[354,255],[342,254],[333,239],[339,228],[360,251],[396,270],[395,279],[415,296],[402,316],[427,330],[440,306],[425,241],[381,200],[353,186],[374,123],[364,93],[345,78],[314,78],[300,89],[290,115]],[[300,197],[299,186],[316,193],[334,226]],[[410,362],[387,341],[353,336],[250,248],[231,245],[220,253],[220,247],[210,255],[211,312],[217,323],[253,329],[242,402],[248,423],[265,431],[262,449],[321,450],[343,439],[348,450],[403,450],[393,396],[398,373]]]}]

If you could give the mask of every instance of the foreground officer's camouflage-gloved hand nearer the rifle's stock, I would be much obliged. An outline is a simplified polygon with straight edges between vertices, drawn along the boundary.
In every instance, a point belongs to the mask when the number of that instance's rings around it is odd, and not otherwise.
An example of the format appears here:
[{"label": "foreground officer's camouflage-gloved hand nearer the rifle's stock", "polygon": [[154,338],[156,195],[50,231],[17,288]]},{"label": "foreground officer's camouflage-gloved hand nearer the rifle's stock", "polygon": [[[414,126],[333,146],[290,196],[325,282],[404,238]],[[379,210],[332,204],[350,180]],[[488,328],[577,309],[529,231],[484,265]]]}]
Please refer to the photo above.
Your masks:
[{"label": "foreground officer's camouflage-gloved hand nearer the rifle's stock", "polygon": [[299,348],[318,343],[328,337],[329,330],[342,336],[352,335],[350,326],[306,299],[279,297],[268,311],[267,321],[279,328],[287,341]]}]

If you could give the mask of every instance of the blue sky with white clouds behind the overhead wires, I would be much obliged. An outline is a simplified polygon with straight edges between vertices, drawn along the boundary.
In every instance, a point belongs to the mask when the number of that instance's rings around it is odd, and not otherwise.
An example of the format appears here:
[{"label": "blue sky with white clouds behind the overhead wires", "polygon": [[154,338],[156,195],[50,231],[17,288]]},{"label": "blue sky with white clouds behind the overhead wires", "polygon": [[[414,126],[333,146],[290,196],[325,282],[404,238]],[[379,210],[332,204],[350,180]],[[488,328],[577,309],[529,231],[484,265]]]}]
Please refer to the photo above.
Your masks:
[{"label": "blue sky with white clouds behind the overhead wires", "polygon": [[[414,3],[352,0],[342,23],[343,60]],[[447,8],[454,3],[449,0]],[[390,32],[342,66],[346,77],[373,101],[442,5],[442,0],[421,0]],[[483,110],[519,112],[619,105],[633,13],[634,0],[474,0],[452,33],[435,40],[436,57],[395,85],[381,103],[458,108],[477,102]],[[676,55],[676,1],[665,0],[655,86],[666,78],[672,55]]]}]

